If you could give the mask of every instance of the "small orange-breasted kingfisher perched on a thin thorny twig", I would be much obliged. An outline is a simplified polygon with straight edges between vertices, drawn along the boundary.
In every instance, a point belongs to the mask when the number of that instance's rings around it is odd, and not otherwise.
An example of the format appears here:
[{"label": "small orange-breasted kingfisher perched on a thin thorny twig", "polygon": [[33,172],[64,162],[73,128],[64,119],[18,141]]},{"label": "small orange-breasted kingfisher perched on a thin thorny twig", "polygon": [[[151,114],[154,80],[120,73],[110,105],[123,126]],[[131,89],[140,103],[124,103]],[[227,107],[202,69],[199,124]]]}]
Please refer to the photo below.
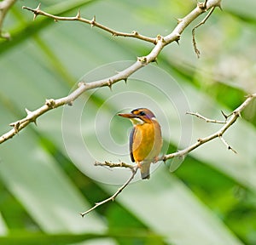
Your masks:
[{"label": "small orange-breasted kingfisher perched on a thin thorny twig", "polygon": [[129,118],[133,124],[130,134],[131,161],[137,163],[142,179],[149,179],[150,164],[157,162],[163,145],[160,124],[154,113],[147,108],[138,108],[131,113],[118,115]]}]

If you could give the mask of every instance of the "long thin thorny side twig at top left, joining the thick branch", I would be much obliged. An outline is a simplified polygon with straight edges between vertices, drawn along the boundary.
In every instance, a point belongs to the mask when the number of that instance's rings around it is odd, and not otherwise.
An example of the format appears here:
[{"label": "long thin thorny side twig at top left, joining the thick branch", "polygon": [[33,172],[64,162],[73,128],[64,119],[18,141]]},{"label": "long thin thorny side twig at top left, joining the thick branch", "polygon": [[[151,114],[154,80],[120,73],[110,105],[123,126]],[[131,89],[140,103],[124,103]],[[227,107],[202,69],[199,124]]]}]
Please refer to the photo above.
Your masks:
[{"label": "long thin thorny side twig at top left, joining the thick branch", "polygon": [[36,9],[32,9],[32,8],[29,8],[29,7],[26,7],[26,6],[23,6],[22,9],[27,9],[29,11],[32,11],[32,13],[34,13],[34,20],[37,18],[38,15],[44,15],[48,18],[51,18],[55,21],[80,21],[80,22],[84,22],[86,24],[89,24],[91,27],[98,27],[104,31],[108,31],[109,33],[111,33],[114,37],[134,37],[134,38],[137,38],[137,39],[141,39],[143,41],[146,41],[146,42],[149,42],[149,43],[156,43],[156,38],[152,38],[152,37],[146,37],[146,36],[143,36],[141,34],[139,34],[137,31],[132,31],[131,33],[125,33],[125,32],[120,32],[120,31],[114,31],[113,29],[111,28],[108,28],[107,26],[103,26],[102,24],[96,22],[96,16],[94,16],[92,18],[92,20],[87,20],[87,19],[84,19],[81,17],[81,14],[80,14],[80,10],[78,11],[78,14],[74,17],[61,17],[61,16],[56,16],[56,15],[53,15],[53,14],[48,14],[44,11],[42,11],[40,9],[40,6],[41,6],[41,3],[38,4],[38,7]]}]

